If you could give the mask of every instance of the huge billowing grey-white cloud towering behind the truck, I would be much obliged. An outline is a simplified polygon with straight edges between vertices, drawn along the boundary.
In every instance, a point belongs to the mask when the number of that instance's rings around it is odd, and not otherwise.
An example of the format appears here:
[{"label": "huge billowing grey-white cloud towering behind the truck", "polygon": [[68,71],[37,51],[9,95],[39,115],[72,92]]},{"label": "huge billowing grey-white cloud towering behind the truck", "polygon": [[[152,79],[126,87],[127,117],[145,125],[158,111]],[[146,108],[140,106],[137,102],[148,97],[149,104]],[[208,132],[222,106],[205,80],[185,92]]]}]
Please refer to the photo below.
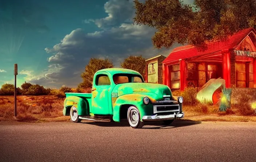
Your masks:
[{"label": "huge billowing grey-white cloud towering behind the truck", "polygon": [[121,61],[130,55],[142,55],[148,59],[159,54],[169,54],[170,50],[153,48],[151,37],[155,29],[131,23],[135,12],[133,0],[109,0],[104,7],[108,17],[95,20],[102,27],[100,31],[71,31],[60,43],[45,48],[45,52],[52,54],[47,59],[51,64],[48,69],[40,75],[28,75],[27,78],[34,84],[47,87],[76,87],[82,81],[80,74],[92,57],[108,58],[115,67],[120,67]]}]

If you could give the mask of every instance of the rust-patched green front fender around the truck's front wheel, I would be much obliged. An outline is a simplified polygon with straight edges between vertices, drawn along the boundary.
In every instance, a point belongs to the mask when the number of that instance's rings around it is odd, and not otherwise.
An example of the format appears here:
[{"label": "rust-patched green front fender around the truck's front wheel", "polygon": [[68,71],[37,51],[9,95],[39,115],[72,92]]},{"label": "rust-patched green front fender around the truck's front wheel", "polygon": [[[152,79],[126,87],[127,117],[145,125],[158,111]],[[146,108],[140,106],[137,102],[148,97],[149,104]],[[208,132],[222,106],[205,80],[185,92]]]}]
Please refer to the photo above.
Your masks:
[{"label": "rust-patched green front fender around the truck's front wheel", "polygon": [[128,108],[131,105],[137,107],[137,109],[139,110],[141,121],[144,115],[152,115],[153,105],[151,103],[145,105],[143,103],[144,97],[146,97],[144,94],[127,94],[118,97],[115,104],[113,105],[113,120],[116,122],[120,122],[121,108]]}]

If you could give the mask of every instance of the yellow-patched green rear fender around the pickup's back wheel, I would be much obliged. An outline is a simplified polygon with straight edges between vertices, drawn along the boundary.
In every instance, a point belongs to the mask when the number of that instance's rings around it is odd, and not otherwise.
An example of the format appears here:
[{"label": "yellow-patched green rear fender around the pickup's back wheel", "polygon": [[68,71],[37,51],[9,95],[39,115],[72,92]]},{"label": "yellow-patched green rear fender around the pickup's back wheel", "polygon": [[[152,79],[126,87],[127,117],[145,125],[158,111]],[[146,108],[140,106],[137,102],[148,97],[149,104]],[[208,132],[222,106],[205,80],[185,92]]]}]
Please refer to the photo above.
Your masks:
[{"label": "yellow-patched green rear fender around the pickup's back wheel", "polygon": [[77,96],[68,96],[64,101],[63,115],[68,116],[72,106],[77,108],[78,115],[89,114],[89,104],[87,99]]}]

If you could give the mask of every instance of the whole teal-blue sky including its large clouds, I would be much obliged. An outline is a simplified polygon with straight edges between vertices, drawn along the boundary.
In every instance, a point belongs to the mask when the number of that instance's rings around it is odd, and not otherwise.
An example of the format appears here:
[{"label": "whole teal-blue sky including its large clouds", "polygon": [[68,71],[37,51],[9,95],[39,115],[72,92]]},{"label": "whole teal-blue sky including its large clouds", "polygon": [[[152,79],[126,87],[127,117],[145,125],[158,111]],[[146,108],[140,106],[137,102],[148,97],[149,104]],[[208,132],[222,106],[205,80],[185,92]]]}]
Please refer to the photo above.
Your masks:
[{"label": "whole teal-blue sky including its large clouds", "polygon": [[[193,0],[184,0],[192,3]],[[133,25],[133,0],[0,0],[0,86],[24,81],[76,87],[91,57],[115,67],[130,55],[168,56],[156,50],[155,29]]]}]

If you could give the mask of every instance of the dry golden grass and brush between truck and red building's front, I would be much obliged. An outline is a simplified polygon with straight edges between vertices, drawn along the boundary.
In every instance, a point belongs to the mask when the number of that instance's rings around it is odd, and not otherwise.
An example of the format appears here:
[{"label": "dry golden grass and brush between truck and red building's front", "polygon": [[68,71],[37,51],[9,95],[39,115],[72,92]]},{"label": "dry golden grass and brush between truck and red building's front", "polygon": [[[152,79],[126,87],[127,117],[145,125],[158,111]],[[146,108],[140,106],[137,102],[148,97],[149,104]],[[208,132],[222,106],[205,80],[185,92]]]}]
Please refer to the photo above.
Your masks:
[{"label": "dry golden grass and brush between truck and red building's front", "polygon": [[256,110],[252,103],[256,101],[256,89],[233,89],[231,108],[225,112],[219,111],[219,104],[201,104],[196,101],[198,89],[188,88],[183,92],[173,91],[173,95],[184,98],[183,111],[185,119],[202,121],[256,121]]}]

